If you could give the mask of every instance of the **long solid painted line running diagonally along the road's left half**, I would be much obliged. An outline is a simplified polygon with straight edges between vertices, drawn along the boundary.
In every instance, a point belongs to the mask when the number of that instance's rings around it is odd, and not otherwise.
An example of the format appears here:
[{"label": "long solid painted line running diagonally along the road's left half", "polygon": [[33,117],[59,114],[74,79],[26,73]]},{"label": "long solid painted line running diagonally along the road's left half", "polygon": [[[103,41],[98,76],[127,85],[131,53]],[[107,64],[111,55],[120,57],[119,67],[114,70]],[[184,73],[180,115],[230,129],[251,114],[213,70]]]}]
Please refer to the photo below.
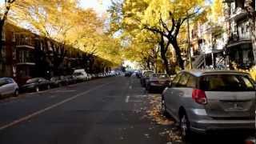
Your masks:
[{"label": "long solid painted line running diagonally along the road's left half", "polygon": [[93,90],[97,90],[97,89],[99,89],[99,88],[101,88],[101,87],[103,87],[103,86],[110,85],[110,83],[112,83],[112,82],[109,82],[109,83],[106,83],[106,84],[103,84],[103,85],[100,85],[100,86],[96,86],[96,87],[94,87],[93,89],[86,90],[85,92],[82,92],[82,93],[80,93],[80,94],[76,94],[76,95],[74,95],[73,97],[66,98],[65,100],[63,100],[63,101],[61,101],[61,102],[58,102],[58,103],[55,103],[55,104],[52,105],[52,106],[46,107],[45,109],[38,110],[38,111],[36,111],[36,112],[34,112],[34,113],[32,113],[32,114],[26,115],[25,117],[22,117],[22,118],[19,118],[19,119],[17,119],[17,120],[14,120],[13,122],[10,122],[10,123],[6,124],[5,126],[1,126],[1,127],[0,127],[0,130],[5,130],[6,128],[9,128],[10,126],[17,125],[17,124],[20,123],[20,122],[24,122],[24,121],[26,121],[26,120],[28,120],[28,119],[30,119],[30,118],[33,118],[33,117],[35,117],[35,116],[38,116],[39,114],[45,113],[45,112],[48,111],[48,110],[54,109],[54,108],[57,107],[57,106],[61,106],[62,104],[66,103],[66,102],[70,102],[70,101],[72,101],[73,99],[78,98],[78,97],[81,97],[81,96],[84,95],[84,94],[88,94],[88,93],[90,93],[90,92],[93,91]]}]

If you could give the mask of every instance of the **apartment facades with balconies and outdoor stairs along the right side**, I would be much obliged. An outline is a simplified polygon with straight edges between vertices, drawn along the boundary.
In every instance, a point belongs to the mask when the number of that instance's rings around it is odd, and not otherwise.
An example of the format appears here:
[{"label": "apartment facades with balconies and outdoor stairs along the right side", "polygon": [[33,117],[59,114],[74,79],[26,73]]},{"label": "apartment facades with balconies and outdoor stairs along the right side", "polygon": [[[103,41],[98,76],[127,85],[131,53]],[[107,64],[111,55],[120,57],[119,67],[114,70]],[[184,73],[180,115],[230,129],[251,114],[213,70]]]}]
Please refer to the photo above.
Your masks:
[{"label": "apartment facades with balconies and outdoor stairs along the right side", "polygon": [[[242,69],[255,66],[255,21],[251,22],[247,0],[226,0],[224,14],[217,20],[198,23],[191,33],[194,68]],[[248,5],[248,4],[247,4]],[[250,2],[255,12],[255,0]]]}]

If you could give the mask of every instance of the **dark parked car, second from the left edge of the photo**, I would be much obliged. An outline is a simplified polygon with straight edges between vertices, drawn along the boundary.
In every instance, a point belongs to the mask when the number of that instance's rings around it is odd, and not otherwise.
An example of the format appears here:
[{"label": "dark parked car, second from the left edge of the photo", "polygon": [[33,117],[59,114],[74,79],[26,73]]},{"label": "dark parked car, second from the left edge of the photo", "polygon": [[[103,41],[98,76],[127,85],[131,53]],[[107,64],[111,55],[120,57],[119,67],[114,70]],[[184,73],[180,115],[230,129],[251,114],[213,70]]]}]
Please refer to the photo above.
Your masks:
[{"label": "dark parked car, second from the left edge of the photo", "polygon": [[52,86],[52,82],[45,78],[31,78],[26,81],[26,84],[22,86],[23,91],[40,91],[49,90]]}]

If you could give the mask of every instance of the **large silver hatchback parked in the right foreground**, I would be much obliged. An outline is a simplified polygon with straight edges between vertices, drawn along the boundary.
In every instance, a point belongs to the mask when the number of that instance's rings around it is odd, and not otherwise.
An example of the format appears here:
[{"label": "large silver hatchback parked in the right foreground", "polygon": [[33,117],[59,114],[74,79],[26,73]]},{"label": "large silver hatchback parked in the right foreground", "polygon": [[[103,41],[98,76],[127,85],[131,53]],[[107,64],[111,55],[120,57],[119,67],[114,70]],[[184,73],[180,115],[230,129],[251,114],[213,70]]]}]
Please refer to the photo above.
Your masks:
[{"label": "large silver hatchback parked in the right foreground", "polygon": [[182,71],[162,94],[162,114],[170,114],[191,134],[255,130],[255,89],[250,74],[230,70]]}]

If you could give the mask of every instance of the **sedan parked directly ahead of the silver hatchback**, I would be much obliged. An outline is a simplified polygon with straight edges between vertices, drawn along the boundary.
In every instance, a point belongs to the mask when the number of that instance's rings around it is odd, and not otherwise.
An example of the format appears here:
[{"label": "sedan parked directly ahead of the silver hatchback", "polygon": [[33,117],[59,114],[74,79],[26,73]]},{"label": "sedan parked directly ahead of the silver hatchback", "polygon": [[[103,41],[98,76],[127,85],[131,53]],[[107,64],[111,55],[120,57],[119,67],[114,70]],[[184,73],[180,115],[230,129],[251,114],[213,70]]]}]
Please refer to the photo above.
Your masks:
[{"label": "sedan parked directly ahead of the silver hatchback", "polygon": [[167,86],[169,86],[169,83],[170,77],[168,74],[150,74],[150,78],[146,79],[146,90],[149,92],[152,90],[164,90]]}]

